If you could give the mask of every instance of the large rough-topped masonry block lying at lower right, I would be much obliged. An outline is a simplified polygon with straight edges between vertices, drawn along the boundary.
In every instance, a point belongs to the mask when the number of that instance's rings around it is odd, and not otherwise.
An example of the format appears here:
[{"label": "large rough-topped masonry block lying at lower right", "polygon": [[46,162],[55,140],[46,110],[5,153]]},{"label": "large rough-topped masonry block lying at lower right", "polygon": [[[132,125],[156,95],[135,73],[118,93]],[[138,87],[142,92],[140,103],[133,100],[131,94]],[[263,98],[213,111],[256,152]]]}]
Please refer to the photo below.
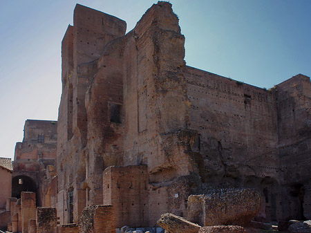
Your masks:
[{"label": "large rough-topped masonry block lying at lower right", "polygon": [[188,198],[187,220],[202,226],[247,225],[261,207],[254,189],[213,189]]}]

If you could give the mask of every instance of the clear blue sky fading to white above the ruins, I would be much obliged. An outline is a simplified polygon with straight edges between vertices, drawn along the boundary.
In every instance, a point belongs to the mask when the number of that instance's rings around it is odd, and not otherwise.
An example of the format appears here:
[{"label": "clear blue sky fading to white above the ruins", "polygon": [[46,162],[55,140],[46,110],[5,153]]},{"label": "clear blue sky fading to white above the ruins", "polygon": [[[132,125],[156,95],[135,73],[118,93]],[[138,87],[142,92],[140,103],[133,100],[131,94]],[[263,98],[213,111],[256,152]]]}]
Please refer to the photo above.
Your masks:
[{"label": "clear blue sky fading to white above the ruins", "polygon": [[[187,65],[270,88],[311,76],[311,0],[171,0]],[[0,157],[13,157],[26,119],[57,120],[61,41],[75,3],[131,30],[156,1],[0,0]]]}]

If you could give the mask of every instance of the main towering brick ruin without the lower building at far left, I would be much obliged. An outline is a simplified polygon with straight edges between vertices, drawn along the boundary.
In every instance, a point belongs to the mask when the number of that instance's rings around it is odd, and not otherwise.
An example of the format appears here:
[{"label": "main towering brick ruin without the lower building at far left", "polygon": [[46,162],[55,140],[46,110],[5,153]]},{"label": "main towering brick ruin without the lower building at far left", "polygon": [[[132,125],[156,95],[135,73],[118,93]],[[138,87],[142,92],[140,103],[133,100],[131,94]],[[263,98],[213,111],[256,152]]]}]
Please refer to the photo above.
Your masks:
[{"label": "main towering brick ruin without the lower building at far left", "polygon": [[[104,202],[115,207],[117,224],[134,216],[126,218],[132,210],[124,210],[134,204],[143,220],[131,224],[153,226],[165,212],[185,216],[187,197],[211,185],[258,188],[262,220],[299,212],[294,208],[301,200],[308,209],[307,167],[297,175],[298,184],[283,185],[294,167],[287,167],[291,156],[280,156],[290,147],[290,140],[282,137],[290,130],[286,125],[292,125],[280,101],[290,95],[286,91],[293,84],[267,91],[185,66],[185,37],[170,3],[154,4],[131,32],[124,35],[125,30],[121,19],[77,5],[74,26],[68,26],[62,41],[56,203],[60,223],[77,223],[84,207]],[[303,113],[310,103],[310,79],[304,79],[294,87],[299,90],[294,91],[294,103],[304,120],[292,118],[299,129],[307,126],[299,131],[305,138],[295,146],[303,151],[300,162],[310,139],[309,113]],[[278,132],[284,133],[281,138]],[[132,180],[115,171],[135,177],[135,169],[129,170],[140,165],[147,166],[147,201],[136,205],[123,195],[136,190],[120,185],[124,192],[117,194],[112,187],[118,187],[117,180],[124,185]],[[103,179],[109,166],[120,168],[109,168]],[[292,187],[301,191],[293,198]],[[46,203],[53,205],[48,190]],[[113,204],[117,197],[123,207]],[[70,207],[68,200],[73,200]],[[281,208],[284,202],[291,202],[288,209]]]}]

